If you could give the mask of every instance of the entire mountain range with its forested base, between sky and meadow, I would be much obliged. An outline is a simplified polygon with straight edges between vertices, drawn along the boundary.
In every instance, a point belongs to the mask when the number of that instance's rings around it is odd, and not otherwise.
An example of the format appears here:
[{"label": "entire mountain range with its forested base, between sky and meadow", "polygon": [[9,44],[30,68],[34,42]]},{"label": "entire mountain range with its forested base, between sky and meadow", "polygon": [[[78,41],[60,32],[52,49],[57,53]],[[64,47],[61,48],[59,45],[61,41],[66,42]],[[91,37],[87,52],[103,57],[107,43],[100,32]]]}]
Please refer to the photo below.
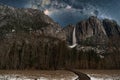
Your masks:
[{"label": "entire mountain range with its forested base, between sky and meadow", "polygon": [[0,69],[119,69],[119,33],[111,20],[62,28],[39,10],[0,6]]}]

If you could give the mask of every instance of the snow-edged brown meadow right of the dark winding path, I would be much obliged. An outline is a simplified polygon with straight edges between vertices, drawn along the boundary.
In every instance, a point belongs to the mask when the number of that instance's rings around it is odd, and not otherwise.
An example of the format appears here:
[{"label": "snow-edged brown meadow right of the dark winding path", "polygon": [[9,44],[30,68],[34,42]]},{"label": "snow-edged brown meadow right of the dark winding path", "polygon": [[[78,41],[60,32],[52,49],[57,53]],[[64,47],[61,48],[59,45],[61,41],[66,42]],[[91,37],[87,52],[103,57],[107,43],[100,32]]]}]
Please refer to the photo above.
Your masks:
[{"label": "snow-edged brown meadow right of the dark winding path", "polygon": [[91,80],[120,80],[120,70],[79,70],[88,74]]}]

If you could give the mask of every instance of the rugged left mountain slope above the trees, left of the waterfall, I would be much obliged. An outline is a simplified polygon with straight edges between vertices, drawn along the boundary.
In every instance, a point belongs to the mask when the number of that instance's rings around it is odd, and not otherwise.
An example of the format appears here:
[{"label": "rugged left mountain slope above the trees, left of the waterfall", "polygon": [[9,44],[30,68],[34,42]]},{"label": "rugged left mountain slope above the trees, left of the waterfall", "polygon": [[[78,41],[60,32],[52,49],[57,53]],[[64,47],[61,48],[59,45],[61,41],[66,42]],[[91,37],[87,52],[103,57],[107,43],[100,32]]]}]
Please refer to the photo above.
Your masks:
[{"label": "rugged left mountain slope above the trees, left of the waterfall", "polygon": [[0,5],[0,35],[5,36],[13,32],[34,32],[66,40],[61,26],[40,10]]}]

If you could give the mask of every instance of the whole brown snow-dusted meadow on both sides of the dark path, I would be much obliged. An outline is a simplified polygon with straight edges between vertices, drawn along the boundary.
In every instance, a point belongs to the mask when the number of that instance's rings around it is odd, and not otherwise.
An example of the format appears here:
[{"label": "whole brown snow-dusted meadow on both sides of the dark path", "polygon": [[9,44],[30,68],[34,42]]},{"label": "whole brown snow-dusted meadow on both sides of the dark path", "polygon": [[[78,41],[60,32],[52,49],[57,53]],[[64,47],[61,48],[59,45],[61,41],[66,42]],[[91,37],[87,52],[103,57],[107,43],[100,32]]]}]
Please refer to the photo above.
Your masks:
[{"label": "whole brown snow-dusted meadow on both sides of the dark path", "polygon": [[[120,80],[120,70],[78,70],[91,80]],[[75,80],[77,75],[65,70],[0,70],[0,80]]]}]

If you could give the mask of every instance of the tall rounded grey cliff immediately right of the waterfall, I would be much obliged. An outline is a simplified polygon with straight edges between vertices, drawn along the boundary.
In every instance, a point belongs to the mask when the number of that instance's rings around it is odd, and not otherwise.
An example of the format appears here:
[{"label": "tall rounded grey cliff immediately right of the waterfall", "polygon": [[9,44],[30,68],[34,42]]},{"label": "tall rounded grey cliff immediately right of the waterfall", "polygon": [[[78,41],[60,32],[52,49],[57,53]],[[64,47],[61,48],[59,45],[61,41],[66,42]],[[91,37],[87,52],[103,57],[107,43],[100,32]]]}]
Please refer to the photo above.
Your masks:
[{"label": "tall rounded grey cliff immediately right of the waterfall", "polygon": [[91,38],[93,36],[101,37],[106,35],[104,27],[99,19],[90,17],[86,21],[81,21],[76,25],[76,35],[78,42]]}]

